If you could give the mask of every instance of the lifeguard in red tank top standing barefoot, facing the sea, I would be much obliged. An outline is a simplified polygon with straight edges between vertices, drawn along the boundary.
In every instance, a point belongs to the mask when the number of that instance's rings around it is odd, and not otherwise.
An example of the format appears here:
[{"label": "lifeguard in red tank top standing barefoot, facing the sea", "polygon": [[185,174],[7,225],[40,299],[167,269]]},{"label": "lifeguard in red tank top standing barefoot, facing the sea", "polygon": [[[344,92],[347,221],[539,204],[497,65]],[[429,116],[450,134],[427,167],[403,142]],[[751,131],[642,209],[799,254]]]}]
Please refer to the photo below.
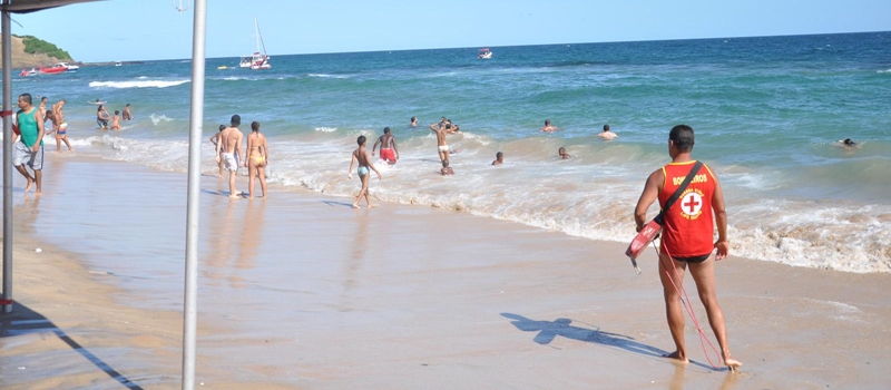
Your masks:
[{"label": "lifeguard in red tank top standing barefoot, facing the sea", "polygon": [[[644,192],[637,201],[634,220],[638,232],[646,224],[647,209],[653,202],[658,198],[659,205],[664,205],[693,168],[695,164],[691,157],[693,144],[693,128],[687,125],[672,128],[668,135],[668,155],[672,157],[672,163],[649,175]],[[715,261],[727,257],[730,253],[727,213],[724,209],[724,193],[717,176],[703,165],[681,198],[669,209],[664,211],[663,216],[659,280],[663,285],[668,329],[677,348],[667,358],[684,363],[688,361],[684,343],[684,308],[681,302],[681,290],[684,271],[689,267],[699,300],[708,314],[708,323],[721,347],[724,364],[735,370],[742,363],[731,355],[724,312],[715,293]],[[714,220],[717,220],[718,236],[717,242],[713,243]],[[713,257],[712,251],[715,248],[717,254]]]}]

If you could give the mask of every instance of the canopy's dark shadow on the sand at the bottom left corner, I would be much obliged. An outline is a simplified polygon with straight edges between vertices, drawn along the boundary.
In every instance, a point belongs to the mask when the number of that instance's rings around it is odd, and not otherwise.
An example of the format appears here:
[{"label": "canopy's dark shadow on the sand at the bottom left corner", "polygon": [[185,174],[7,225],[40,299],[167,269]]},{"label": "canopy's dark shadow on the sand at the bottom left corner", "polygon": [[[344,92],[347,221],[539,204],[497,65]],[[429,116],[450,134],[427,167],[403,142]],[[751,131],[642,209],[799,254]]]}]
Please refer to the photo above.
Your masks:
[{"label": "canopy's dark shadow on the sand at the bottom left corner", "polygon": [[12,312],[8,314],[0,314],[0,338],[14,338],[17,335],[31,334],[31,333],[53,333],[62,342],[68,344],[81,357],[89,360],[90,363],[96,365],[99,370],[107,373],[114,380],[120,382],[128,389],[141,389],[138,384],[131,382],[127,377],[116,371],[110,365],[106,364],[97,355],[92,354],[89,350],[78,344],[77,341],[68,337],[61,329],[56,326],[52,321],[48,320],[42,314],[32,311],[18,302],[12,303]]}]

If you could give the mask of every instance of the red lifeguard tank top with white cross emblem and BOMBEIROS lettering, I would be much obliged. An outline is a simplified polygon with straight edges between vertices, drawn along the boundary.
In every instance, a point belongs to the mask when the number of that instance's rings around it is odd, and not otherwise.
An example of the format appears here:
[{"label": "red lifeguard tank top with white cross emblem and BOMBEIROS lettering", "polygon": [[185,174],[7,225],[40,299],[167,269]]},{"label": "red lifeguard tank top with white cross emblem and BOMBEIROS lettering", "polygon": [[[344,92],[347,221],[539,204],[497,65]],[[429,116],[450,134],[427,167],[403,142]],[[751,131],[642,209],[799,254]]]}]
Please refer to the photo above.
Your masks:
[{"label": "red lifeguard tank top with white cross emblem and BOMBEIROS lettering", "polygon": [[[664,205],[687,177],[696,162],[672,163],[662,168],[665,175],[659,205]],[[694,257],[712,253],[714,250],[714,216],[712,194],[715,192],[715,176],[703,164],[687,189],[677,198],[670,209],[665,211],[663,226],[663,251],[668,250],[672,257]]]}]

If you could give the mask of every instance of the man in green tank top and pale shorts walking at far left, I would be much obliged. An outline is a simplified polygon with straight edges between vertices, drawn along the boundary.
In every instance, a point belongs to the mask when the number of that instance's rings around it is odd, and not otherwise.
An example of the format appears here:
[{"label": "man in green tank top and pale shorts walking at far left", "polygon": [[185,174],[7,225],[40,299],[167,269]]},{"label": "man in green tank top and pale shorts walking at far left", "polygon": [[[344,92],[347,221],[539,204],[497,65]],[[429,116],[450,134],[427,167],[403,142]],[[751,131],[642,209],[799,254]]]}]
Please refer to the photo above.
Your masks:
[{"label": "man in green tank top and pale shorts walking at far left", "polygon": [[[19,95],[18,105],[20,109],[16,113],[16,123],[20,136],[19,142],[13,145],[12,166],[28,181],[25,192],[31,191],[36,183],[35,195],[40,195],[43,178],[43,118],[40,110],[31,105],[31,94]],[[26,164],[33,169],[33,176],[25,168]]]}]

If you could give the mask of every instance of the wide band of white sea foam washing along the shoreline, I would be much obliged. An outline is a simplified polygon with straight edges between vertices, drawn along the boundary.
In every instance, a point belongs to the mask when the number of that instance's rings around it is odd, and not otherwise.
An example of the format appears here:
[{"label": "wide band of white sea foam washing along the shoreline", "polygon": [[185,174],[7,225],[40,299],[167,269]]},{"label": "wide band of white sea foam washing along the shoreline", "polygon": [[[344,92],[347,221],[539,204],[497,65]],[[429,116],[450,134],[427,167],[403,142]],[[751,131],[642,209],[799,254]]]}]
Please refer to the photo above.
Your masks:
[{"label": "wide band of white sea foam washing along the shoreline", "polygon": [[[333,127],[317,127],[315,137],[334,130]],[[360,133],[376,136],[371,130]],[[270,170],[270,183],[332,196],[354,196],[356,182],[343,175],[350,165],[350,150],[355,145],[353,137],[324,137],[331,138],[312,143],[271,139],[276,158]],[[625,243],[634,236],[631,212],[640,193],[639,182],[652,167],[626,164],[621,177],[616,172],[610,173],[609,169],[615,170],[610,163],[565,162],[549,153],[512,157],[529,149],[527,142],[497,146],[505,150],[508,159],[506,165],[493,167],[490,163],[496,147],[480,145],[481,138],[486,137],[464,134],[464,138],[450,138],[450,144],[463,143],[469,150],[452,156],[456,175],[449,177],[439,175],[435,142],[429,135],[401,142],[399,164],[391,167],[375,163],[384,179],[372,183],[372,196],[512,221],[593,240]],[[114,154],[111,158],[161,170],[186,169],[183,164],[188,153],[185,140],[137,140],[115,135],[90,142],[105,145]],[[209,144],[202,147],[206,148],[207,156],[213,155]],[[712,168],[718,176],[724,174],[721,166]],[[216,165],[206,159],[202,169],[213,173]],[[731,170],[744,174],[737,168]],[[767,199],[758,196],[757,188],[744,184],[736,188],[746,191],[728,191],[734,186],[730,182],[745,181],[725,182],[730,235],[734,243],[732,254],[796,266],[891,272],[891,207]],[[654,205],[648,215],[655,215],[656,211]],[[615,256],[621,257],[621,254]]]}]

